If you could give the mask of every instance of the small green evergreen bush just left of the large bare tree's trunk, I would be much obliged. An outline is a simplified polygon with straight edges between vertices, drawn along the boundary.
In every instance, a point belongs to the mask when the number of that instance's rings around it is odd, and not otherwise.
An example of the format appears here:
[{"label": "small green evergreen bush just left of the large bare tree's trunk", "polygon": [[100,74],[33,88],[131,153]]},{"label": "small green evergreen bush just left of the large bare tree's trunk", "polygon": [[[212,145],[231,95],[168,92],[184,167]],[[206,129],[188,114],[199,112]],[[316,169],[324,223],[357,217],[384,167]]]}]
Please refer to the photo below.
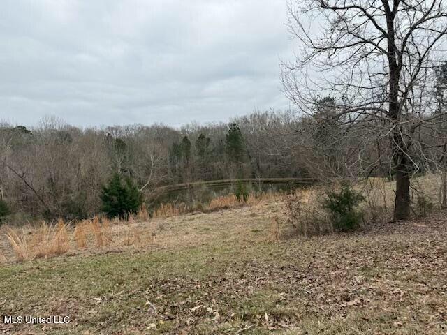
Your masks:
[{"label": "small green evergreen bush just left of the large bare tree's trunk", "polygon": [[329,211],[335,230],[347,232],[360,225],[362,213],[356,211],[356,207],[363,201],[362,193],[353,190],[349,184],[342,184],[339,191],[326,192],[323,208]]}]

